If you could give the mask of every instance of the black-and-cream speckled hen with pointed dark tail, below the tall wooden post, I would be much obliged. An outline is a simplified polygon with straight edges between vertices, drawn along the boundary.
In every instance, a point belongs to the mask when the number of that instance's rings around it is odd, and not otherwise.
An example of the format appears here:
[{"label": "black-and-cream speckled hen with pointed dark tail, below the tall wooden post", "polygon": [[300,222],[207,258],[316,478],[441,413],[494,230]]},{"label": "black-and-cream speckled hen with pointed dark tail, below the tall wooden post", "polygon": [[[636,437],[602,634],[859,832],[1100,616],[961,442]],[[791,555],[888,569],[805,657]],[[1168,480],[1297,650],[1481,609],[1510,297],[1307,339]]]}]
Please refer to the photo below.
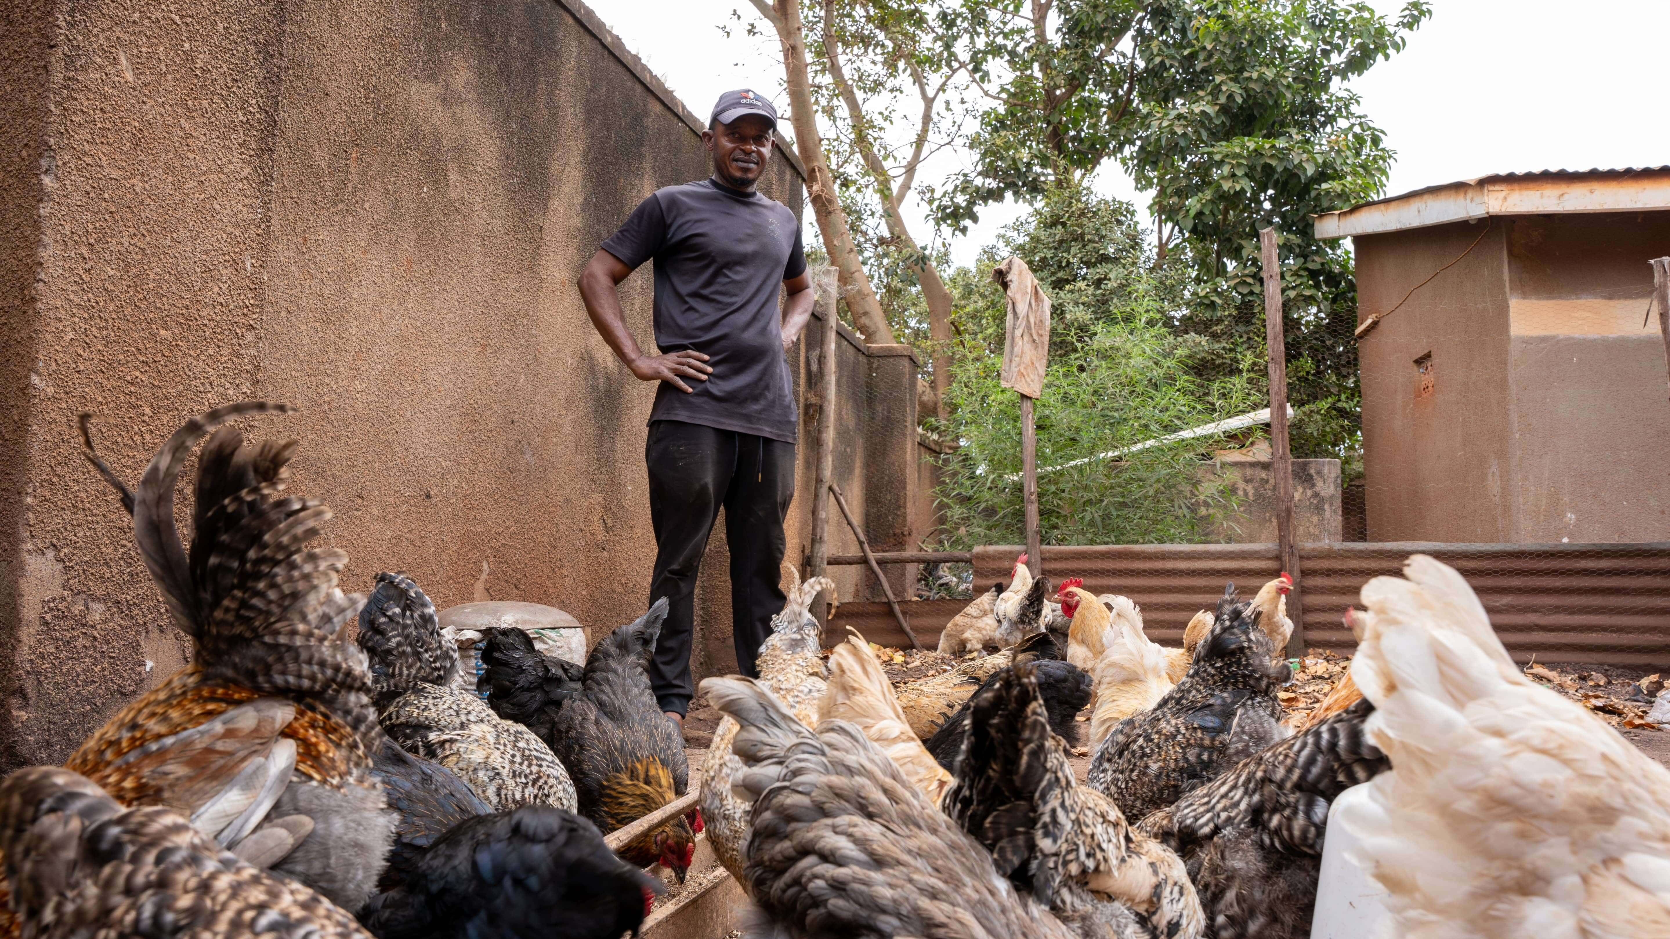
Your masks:
[{"label": "black-and-cream speckled hen with pointed dark tail, below the tall wooden post", "polygon": [[1171,806],[1281,737],[1276,689],[1293,672],[1271,657],[1258,619],[1234,585],[1224,590],[1189,674],[1096,749],[1089,782],[1127,817]]}]

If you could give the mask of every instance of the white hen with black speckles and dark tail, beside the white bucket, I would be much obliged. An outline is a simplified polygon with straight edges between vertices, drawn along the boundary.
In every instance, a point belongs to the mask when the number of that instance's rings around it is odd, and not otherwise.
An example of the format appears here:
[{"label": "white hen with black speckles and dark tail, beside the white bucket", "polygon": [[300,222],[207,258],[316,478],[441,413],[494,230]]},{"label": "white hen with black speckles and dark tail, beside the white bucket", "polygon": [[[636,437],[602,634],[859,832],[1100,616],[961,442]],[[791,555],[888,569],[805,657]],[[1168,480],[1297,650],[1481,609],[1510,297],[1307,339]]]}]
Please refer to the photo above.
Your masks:
[{"label": "white hen with black speckles and dark tail, beside the white bucket", "polygon": [[574,809],[574,782],[551,749],[453,687],[458,647],[441,635],[434,604],[411,577],[377,575],[359,645],[371,657],[377,719],[406,752],[449,769],[493,811]]}]

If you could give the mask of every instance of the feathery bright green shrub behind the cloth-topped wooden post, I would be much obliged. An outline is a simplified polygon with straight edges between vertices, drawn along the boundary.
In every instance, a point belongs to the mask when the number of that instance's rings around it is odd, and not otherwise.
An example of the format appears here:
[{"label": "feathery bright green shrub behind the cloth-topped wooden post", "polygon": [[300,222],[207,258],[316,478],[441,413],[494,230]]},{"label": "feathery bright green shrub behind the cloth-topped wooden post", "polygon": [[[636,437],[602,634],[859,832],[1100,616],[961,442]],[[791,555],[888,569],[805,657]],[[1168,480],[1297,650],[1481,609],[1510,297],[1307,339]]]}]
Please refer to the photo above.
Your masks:
[{"label": "feathery bright green shrub behind the cloth-topped wooden post", "polygon": [[1045,544],[1192,542],[1236,509],[1199,454],[1214,444],[1101,454],[1254,410],[1261,362],[1201,377],[1206,347],[1171,329],[1186,299],[1181,265],[1156,265],[1129,203],[1082,188],[1052,190],[1010,227],[977,269],[950,277],[957,355],[944,457],[947,545],[1020,544],[1020,417],[1000,387],[1004,292],[990,269],[1015,254],[1052,300],[1050,364],[1035,407]]}]

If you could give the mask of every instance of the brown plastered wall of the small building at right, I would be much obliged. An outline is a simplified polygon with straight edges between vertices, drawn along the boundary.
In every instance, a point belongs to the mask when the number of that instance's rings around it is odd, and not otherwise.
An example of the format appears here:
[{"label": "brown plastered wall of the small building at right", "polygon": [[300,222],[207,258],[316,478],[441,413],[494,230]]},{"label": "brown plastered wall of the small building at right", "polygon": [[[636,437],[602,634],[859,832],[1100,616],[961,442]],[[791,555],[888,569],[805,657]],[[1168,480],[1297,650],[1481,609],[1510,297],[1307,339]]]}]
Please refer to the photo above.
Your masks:
[{"label": "brown plastered wall of the small building at right", "polygon": [[[1670,537],[1663,339],[1643,325],[1670,213],[1503,217],[1356,240],[1369,540]],[[1423,390],[1414,360],[1431,354]]]}]

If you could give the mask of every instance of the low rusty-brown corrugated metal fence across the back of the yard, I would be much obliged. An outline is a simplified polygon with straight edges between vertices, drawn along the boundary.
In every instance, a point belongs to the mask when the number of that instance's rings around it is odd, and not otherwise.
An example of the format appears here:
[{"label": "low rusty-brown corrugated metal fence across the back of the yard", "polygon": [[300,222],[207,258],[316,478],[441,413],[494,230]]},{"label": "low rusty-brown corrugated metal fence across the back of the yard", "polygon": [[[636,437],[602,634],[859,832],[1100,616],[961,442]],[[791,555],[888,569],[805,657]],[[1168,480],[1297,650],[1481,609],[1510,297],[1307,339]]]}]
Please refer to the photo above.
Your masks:
[{"label": "low rusty-brown corrugated metal fence across the back of the yard", "polygon": [[[975,589],[1009,580],[1019,547],[974,552]],[[1313,647],[1356,647],[1341,617],[1363,584],[1396,575],[1411,554],[1460,570],[1516,659],[1670,665],[1670,544],[1435,544],[1329,542],[1299,545],[1306,639]],[[1124,594],[1142,607],[1147,634],[1176,645],[1189,617],[1232,580],[1251,597],[1279,574],[1273,544],[1045,547],[1044,574],[1084,577],[1092,594]],[[935,600],[947,604],[947,600]],[[907,609],[915,604],[907,604]],[[885,604],[880,604],[885,610]],[[853,610],[858,614],[860,610]],[[922,610],[924,614],[929,610]],[[935,610],[937,612],[937,610]],[[910,615],[929,644],[932,629]],[[897,627],[893,627],[897,632]]]}]

